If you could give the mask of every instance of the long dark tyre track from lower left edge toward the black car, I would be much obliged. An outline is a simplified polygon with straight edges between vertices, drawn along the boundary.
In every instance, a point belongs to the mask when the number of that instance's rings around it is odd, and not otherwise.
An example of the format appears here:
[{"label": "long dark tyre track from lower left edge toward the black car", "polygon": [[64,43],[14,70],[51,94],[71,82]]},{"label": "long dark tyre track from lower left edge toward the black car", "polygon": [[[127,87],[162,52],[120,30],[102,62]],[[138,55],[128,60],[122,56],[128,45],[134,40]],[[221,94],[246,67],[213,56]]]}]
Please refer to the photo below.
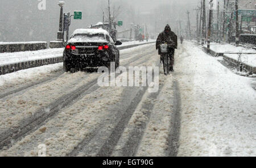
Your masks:
[{"label": "long dark tyre track from lower left edge toward the black car", "polygon": [[[144,58],[142,60],[143,62],[148,60],[148,53],[152,52],[143,53],[142,57],[135,57],[131,59],[127,64],[125,64],[125,66],[128,66],[132,62],[137,61],[141,58]],[[97,79],[94,79],[93,81],[86,83],[85,85],[82,85],[72,93],[66,94],[65,96],[61,96],[55,102],[51,103],[48,106],[48,108],[44,107],[38,110],[35,113],[35,115],[23,119],[19,122],[18,127],[10,128],[7,131],[2,132],[0,134],[0,150],[2,150],[3,148],[10,148],[13,144],[15,144],[15,142],[19,141],[24,136],[29,135],[31,132],[34,132],[36,128],[41,127],[46,122],[46,120],[50,120],[52,117],[58,114],[58,112],[62,108],[72,106],[72,104],[75,103],[75,100],[80,98],[80,96],[90,94],[92,93],[92,91],[97,90],[99,87],[100,86],[97,85]],[[46,112],[46,109],[48,109],[48,112]]]}]

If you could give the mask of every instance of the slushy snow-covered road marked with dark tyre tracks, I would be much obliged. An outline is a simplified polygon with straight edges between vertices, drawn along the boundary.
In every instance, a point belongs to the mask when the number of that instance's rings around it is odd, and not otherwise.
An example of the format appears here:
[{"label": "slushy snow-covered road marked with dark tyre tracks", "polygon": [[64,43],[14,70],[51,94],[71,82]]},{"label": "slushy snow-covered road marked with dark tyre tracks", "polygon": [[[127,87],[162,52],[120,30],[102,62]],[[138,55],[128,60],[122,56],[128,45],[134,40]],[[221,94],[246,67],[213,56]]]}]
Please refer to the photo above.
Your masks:
[{"label": "slushy snow-covered road marked with dark tyre tracks", "polygon": [[[121,66],[158,66],[155,44],[120,51]],[[256,156],[253,78],[185,41],[159,90],[100,87],[61,64],[0,76],[0,156]]]}]

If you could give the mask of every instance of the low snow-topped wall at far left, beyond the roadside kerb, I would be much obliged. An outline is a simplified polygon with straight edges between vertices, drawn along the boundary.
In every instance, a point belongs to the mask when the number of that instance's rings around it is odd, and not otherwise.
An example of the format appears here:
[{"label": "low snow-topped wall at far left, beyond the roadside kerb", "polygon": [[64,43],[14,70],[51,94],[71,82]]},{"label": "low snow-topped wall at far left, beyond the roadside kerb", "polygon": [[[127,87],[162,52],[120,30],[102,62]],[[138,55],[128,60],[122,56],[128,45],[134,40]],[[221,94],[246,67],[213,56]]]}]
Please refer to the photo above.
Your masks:
[{"label": "low snow-topped wall at far left, beyond the roadside kerb", "polygon": [[46,49],[46,41],[31,42],[0,42],[0,53],[4,52],[20,52],[20,51],[36,51]]}]

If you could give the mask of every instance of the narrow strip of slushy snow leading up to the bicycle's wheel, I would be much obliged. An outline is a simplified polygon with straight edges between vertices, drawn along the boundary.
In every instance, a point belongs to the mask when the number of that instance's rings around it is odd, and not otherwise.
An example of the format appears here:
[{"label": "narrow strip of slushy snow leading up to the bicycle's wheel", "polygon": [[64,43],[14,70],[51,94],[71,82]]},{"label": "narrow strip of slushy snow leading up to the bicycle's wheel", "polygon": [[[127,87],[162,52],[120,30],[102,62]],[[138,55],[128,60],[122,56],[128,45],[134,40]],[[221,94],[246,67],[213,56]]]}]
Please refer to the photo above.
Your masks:
[{"label": "narrow strip of slushy snow leading up to the bicycle's wheel", "polygon": [[[184,52],[180,47],[175,51],[175,60]],[[174,77],[175,73],[166,76],[163,74],[163,64],[159,67],[159,84],[163,85],[158,98],[154,100],[154,108],[146,131],[144,132],[141,144],[137,151],[137,156],[141,157],[164,157],[168,156],[168,138],[170,138],[170,128],[172,117],[174,117],[174,81],[179,81]]]}]

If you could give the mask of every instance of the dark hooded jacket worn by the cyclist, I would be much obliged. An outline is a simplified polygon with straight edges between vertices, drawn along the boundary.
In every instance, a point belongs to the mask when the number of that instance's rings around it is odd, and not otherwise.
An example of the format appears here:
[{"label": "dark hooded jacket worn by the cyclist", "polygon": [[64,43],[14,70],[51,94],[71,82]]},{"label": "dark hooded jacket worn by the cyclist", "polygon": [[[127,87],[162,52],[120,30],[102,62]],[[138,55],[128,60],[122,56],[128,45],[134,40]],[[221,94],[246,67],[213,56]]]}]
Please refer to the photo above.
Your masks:
[{"label": "dark hooded jacket worn by the cyclist", "polygon": [[[166,30],[168,30],[169,33],[166,33]],[[163,43],[172,45],[173,48],[177,49],[177,36],[175,35],[174,32],[171,31],[171,28],[168,24],[164,28],[164,31],[159,34],[158,39],[156,39],[156,49],[159,49],[160,44]]]}]

